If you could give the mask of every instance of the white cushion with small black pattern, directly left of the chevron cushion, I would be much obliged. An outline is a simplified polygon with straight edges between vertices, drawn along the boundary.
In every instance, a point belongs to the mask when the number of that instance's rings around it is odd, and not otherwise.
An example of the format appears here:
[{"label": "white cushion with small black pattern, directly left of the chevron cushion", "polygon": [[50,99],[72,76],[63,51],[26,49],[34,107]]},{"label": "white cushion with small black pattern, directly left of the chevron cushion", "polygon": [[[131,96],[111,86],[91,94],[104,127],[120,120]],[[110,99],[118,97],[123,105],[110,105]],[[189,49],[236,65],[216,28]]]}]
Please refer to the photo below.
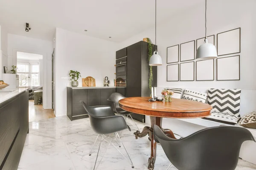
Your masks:
[{"label": "white cushion with small black pattern, directly left of the chevron cushion", "polygon": [[200,91],[191,91],[189,89],[185,89],[181,99],[194,100],[205,103],[207,99],[207,94],[201,93]]}]

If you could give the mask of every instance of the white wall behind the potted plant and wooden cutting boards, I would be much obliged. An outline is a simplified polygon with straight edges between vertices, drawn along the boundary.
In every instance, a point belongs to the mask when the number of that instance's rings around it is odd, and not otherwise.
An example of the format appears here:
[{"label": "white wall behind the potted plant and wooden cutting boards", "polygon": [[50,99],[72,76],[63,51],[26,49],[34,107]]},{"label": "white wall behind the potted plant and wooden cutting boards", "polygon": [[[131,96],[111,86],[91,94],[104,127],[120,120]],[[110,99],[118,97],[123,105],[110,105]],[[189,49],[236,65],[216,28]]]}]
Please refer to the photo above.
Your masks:
[{"label": "white wall behind the potted plant and wooden cutting boards", "polygon": [[[81,73],[81,78],[91,76],[96,86],[103,85],[108,76],[115,79],[116,43],[56,28],[55,91],[56,116],[67,114],[67,79],[70,70]],[[79,85],[81,86],[81,78]]]}]

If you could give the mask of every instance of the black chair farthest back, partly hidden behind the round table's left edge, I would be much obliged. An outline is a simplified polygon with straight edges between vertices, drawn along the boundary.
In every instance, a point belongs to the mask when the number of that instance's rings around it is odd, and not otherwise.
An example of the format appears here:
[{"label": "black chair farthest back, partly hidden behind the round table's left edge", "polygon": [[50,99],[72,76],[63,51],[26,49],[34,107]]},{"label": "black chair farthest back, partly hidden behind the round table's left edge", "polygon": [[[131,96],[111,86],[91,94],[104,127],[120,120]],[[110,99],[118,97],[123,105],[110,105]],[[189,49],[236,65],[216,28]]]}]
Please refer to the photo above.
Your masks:
[{"label": "black chair farthest back, partly hidden behind the round table's left edge", "polygon": [[[124,116],[124,118],[125,118],[125,121],[127,122],[127,118],[130,116],[131,117],[131,112],[128,112],[128,111],[125,111],[125,110],[123,110],[122,108],[120,108],[120,106],[119,106],[119,100],[121,100],[121,99],[124,99],[124,98],[126,98],[125,96],[123,96],[122,94],[119,94],[119,93],[112,93],[110,96],[109,96],[109,98],[107,99],[108,101],[110,101],[110,102],[112,102],[112,108],[113,108],[113,111],[115,112],[115,113],[117,113],[117,114],[119,114],[119,115],[122,115],[122,116]],[[137,129],[138,130],[140,130],[139,129],[139,127],[137,126],[137,124],[134,122],[134,119],[131,117],[131,120],[132,120],[132,125],[134,126],[134,127],[137,127]]]}]

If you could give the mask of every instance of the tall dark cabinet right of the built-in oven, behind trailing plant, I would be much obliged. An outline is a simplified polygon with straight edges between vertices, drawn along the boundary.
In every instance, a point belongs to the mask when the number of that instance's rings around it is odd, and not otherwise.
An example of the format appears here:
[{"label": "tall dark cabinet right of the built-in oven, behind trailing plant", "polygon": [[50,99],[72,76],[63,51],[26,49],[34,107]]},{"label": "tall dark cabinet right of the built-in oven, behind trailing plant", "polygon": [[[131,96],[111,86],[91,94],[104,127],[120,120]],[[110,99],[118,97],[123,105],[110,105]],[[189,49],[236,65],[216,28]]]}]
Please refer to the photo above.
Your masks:
[{"label": "tall dark cabinet right of the built-in oven, behind trailing plant", "polygon": [[[153,46],[152,52],[155,51]],[[149,65],[148,65],[148,43],[137,42],[127,47],[127,82],[126,96],[140,97],[150,96],[148,88]],[[153,82],[152,86],[157,87],[157,67],[152,67]],[[132,117],[140,122],[145,122],[145,115],[132,114]]]}]

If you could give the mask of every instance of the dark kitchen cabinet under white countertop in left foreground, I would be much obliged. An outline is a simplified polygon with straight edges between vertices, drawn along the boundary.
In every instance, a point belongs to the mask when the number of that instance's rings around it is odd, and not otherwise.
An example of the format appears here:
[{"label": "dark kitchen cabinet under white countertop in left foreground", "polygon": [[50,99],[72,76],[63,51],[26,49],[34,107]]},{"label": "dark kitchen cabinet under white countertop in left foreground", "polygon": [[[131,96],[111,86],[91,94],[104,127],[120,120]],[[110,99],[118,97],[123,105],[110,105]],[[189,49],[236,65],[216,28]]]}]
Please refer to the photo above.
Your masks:
[{"label": "dark kitchen cabinet under white countertop in left foreground", "polygon": [[29,131],[29,94],[0,103],[0,170],[17,170]]}]

